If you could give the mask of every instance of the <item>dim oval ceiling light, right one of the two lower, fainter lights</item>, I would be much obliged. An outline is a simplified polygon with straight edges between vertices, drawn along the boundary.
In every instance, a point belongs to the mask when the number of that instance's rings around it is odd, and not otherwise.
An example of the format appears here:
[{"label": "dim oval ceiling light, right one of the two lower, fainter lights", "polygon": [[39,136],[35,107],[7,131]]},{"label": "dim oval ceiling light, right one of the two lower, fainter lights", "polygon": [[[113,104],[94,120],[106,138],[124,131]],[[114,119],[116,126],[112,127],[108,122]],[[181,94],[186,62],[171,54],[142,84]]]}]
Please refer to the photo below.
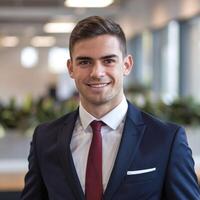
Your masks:
[{"label": "dim oval ceiling light, right one of the two lower, fainter lights", "polygon": [[35,36],[31,39],[31,45],[34,47],[50,47],[56,43],[56,39],[51,36]]}]

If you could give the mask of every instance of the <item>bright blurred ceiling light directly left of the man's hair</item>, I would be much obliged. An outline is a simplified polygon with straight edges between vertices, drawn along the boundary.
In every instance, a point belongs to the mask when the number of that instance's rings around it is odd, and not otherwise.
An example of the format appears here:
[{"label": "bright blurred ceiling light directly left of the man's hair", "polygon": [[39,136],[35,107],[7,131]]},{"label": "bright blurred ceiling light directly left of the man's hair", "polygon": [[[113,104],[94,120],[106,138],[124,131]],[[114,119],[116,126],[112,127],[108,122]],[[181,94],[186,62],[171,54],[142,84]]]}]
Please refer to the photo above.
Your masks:
[{"label": "bright blurred ceiling light directly left of the man's hair", "polygon": [[51,22],[44,25],[44,31],[47,33],[70,33],[75,24],[72,22]]}]

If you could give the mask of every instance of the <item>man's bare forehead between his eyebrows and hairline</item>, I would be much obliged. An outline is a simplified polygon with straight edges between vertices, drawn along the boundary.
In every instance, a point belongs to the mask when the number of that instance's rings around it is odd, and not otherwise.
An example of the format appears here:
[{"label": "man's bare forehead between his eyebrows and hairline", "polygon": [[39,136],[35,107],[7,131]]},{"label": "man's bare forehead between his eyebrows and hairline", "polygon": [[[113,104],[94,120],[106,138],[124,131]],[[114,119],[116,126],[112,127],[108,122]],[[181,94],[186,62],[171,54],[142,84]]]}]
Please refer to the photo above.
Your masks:
[{"label": "man's bare forehead between his eyebrows and hairline", "polygon": [[72,56],[98,57],[109,54],[122,54],[120,42],[116,36],[100,35],[83,39],[75,43]]}]

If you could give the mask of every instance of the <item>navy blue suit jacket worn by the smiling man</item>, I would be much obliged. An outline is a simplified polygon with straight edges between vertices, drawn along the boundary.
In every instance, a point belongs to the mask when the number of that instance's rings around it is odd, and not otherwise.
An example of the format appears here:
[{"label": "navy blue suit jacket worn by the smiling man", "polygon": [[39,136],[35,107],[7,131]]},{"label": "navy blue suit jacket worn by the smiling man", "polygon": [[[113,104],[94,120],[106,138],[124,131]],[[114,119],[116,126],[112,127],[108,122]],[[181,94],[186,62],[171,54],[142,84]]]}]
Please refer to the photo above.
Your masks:
[{"label": "navy blue suit jacket worn by the smiling man", "polygon": [[[70,151],[77,116],[75,111],[36,128],[22,200],[84,200]],[[128,171],[131,175],[127,175]],[[129,104],[103,198],[111,199],[200,200],[184,129]]]}]

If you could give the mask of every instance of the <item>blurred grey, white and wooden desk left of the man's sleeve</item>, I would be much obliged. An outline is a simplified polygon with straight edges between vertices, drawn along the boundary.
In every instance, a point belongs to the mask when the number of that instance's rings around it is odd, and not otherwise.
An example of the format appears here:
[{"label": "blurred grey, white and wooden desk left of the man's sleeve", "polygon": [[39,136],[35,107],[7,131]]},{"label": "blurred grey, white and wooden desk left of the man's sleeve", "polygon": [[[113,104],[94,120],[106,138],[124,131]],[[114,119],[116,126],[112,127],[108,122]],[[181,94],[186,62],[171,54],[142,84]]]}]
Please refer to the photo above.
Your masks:
[{"label": "blurred grey, white and wooden desk left of the man's sleeve", "polygon": [[10,132],[0,138],[0,192],[21,191],[28,170],[31,136]]}]

